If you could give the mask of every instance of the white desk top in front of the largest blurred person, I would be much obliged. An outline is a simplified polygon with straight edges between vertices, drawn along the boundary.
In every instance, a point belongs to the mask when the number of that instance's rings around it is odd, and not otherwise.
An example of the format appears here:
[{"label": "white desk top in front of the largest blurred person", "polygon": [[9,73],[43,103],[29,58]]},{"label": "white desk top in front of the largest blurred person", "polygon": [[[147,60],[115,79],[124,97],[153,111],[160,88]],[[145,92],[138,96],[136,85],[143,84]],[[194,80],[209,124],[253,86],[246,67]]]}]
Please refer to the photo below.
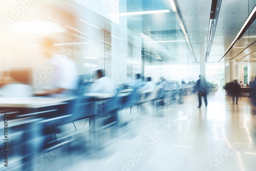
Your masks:
[{"label": "white desk top in front of the largest blurred person", "polygon": [[40,108],[56,105],[74,98],[50,98],[50,97],[0,97],[2,108]]}]

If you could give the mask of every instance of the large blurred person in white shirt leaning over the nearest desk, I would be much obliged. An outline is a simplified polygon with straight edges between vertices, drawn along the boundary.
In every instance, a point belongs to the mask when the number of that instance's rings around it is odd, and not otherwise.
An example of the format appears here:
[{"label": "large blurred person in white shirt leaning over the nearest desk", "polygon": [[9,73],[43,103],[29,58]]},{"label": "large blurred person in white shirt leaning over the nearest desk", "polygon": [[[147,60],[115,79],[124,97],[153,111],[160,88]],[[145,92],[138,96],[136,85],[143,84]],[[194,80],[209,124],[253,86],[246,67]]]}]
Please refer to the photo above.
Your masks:
[{"label": "large blurred person in white shirt leaning over the nearest desk", "polygon": [[65,97],[72,96],[78,86],[78,73],[73,60],[63,54],[57,54],[57,48],[54,46],[52,39],[45,39],[42,42],[44,56],[50,59],[51,70],[54,79],[51,82],[51,87],[42,91],[36,92],[36,96],[53,96]]}]

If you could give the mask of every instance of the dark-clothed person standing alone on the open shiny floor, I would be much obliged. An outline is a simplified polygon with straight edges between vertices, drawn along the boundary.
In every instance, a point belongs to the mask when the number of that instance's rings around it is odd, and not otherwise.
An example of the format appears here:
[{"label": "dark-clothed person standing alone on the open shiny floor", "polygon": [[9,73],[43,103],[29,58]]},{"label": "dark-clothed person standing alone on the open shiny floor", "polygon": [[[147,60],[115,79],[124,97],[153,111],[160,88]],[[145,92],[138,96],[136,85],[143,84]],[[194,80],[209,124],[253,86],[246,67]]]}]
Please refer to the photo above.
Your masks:
[{"label": "dark-clothed person standing alone on the open shiny floor", "polygon": [[196,82],[196,88],[198,91],[198,100],[199,105],[198,108],[201,108],[202,105],[202,97],[204,98],[204,104],[207,106],[207,86],[206,86],[206,79],[204,76],[199,75],[199,79]]}]

